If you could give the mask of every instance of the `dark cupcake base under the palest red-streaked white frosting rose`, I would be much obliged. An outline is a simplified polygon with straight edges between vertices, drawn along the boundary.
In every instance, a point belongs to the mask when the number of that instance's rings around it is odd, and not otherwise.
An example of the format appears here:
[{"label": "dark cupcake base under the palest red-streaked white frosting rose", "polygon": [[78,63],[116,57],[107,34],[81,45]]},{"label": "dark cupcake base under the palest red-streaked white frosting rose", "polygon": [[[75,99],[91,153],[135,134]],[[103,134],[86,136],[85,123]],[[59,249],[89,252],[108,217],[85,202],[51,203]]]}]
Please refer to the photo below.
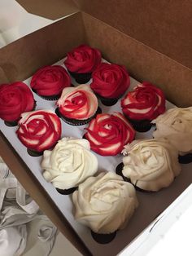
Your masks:
[{"label": "dark cupcake base under the palest red-streaked white frosting rose", "polygon": [[100,107],[98,107],[98,110],[96,111],[94,116],[90,117],[90,118],[88,118],[86,120],[78,120],[78,119],[71,119],[71,118],[68,118],[68,117],[63,117],[63,115],[59,112],[59,108],[55,109],[55,113],[63,121],[68,123],[68,125],[71,125],[71,126],[83,126],[83,125],[87,124],[89,121],[91,121],[94,117],[96,117],[98,113],[102,113],[102,109]]}]

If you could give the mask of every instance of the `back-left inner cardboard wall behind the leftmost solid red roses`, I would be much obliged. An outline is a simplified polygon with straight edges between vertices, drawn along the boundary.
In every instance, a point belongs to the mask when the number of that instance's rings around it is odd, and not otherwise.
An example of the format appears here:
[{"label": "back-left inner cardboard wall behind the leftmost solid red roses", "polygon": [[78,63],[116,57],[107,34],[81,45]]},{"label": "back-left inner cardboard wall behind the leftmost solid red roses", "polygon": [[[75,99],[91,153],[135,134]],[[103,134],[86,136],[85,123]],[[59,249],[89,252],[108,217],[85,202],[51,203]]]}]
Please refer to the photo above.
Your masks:
[{"label": "back-left inner cardboard wall behind the leftmost solid red roses", "polygon": [[[66,37],[71,24],[71,31]],[[59,61],[72,47],[83,42],[85,42],[85,26],[81,12],[29,33],[24,38],[0,49],[1,83],[7,80],[8,82],[24,81],[38,68]]]}]

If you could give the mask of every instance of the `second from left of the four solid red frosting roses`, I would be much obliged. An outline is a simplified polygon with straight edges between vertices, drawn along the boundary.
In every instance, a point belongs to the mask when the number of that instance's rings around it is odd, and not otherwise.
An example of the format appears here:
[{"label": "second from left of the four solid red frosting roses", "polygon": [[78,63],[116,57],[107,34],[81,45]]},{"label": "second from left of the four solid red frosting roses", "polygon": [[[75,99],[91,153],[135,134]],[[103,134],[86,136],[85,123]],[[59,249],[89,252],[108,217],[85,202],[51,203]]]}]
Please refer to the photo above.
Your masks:
[{"label": "second from left of the four solid red frosting roses", "polygon": [[60,95],[63,88],[71,85],[71,78],[62,66],[46,66],[33,75],[31,87],[38,95]]}]

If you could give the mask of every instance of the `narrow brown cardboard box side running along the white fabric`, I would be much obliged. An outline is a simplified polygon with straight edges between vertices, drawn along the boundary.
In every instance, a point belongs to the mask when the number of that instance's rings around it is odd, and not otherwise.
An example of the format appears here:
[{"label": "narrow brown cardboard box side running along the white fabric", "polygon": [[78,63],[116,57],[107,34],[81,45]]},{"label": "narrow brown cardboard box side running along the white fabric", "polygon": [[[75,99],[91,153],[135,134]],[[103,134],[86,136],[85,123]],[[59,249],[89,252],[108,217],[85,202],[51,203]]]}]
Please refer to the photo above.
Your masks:
[{"label": "narrow brown cardboard box side running along the white fabric", "polygon": [[[80,237],[77,236],[68,220],[63,216],[54,201],[46,193],[45,189],[38,183],[35,176],[28,169],[28,166],[19,157],[14,148],[0,131],[0,156],[7,163],[15,177],[19,180],[25,190],[33,197],[33,200],[37,202],[40,209],[47,215],[48,218],[59,228],[59,231],[63,233],[68,241],[72,243],[83,255],[92,255],[89,249],[81,241]],[[30,180],[28,185],[26,180]],[[65,226],[65,227],[63,227]]]}]

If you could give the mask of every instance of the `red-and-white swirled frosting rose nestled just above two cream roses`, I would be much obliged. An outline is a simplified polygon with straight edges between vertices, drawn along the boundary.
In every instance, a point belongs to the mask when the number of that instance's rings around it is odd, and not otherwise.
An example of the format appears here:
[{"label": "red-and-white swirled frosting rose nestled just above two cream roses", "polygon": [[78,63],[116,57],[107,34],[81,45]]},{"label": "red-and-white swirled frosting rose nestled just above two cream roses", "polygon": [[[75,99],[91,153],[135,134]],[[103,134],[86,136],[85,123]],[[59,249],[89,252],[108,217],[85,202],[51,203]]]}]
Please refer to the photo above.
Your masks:
[{"label": "red-and-white swirled frosting rose nestled just above two cream roses", "polygon": [[135,130],[121,113],[98,114],[86,130],[85,138],[89,140],[90,148],[103,156],[120,153],[135,136]]}]

